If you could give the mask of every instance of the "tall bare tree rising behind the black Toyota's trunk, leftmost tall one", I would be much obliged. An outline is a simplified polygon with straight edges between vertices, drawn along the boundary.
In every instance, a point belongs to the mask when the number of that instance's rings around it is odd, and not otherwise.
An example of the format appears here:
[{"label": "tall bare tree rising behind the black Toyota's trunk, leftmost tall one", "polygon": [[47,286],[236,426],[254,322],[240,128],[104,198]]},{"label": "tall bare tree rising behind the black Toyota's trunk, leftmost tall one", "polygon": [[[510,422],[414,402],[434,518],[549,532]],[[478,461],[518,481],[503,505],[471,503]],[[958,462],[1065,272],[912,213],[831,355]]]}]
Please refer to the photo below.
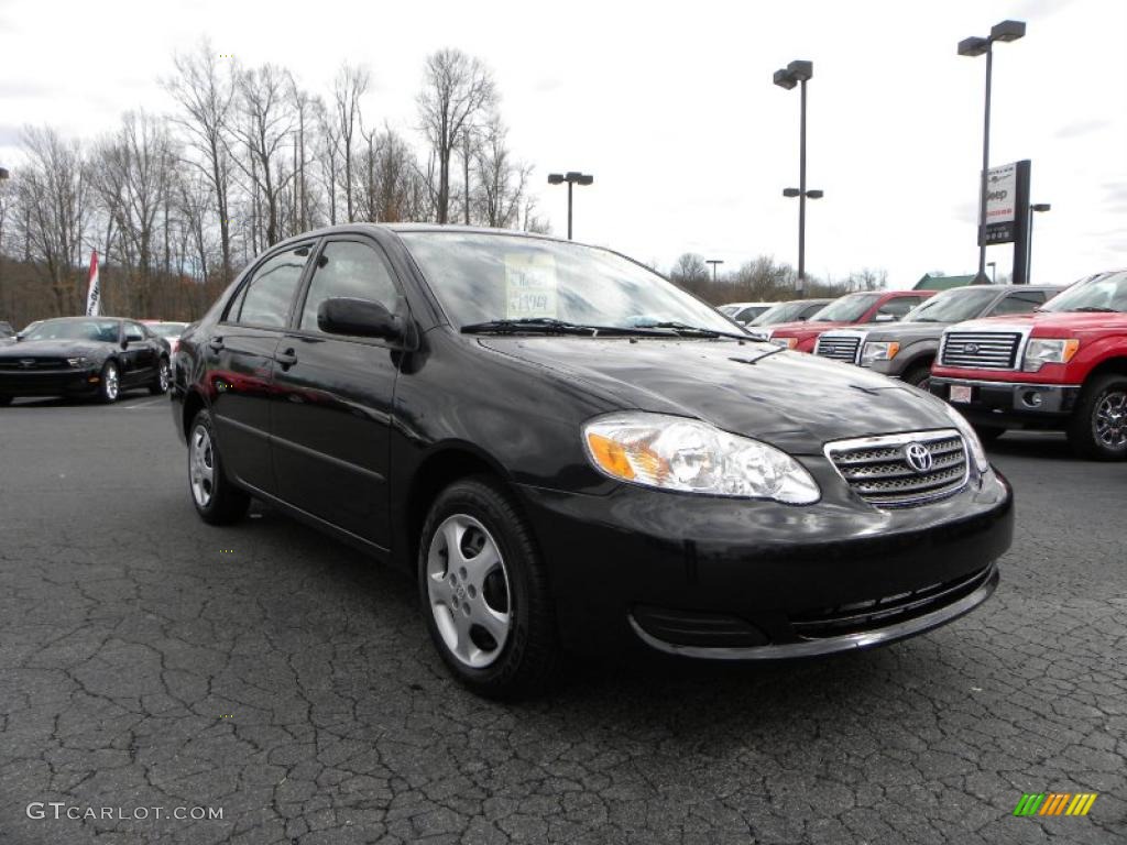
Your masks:
[{"label": "tall bare tree rising behind the black Toyota's trunk, leftmost tall one", "polygon": [[196,157],[187,158],[211,186],[219,220],[219,242],[222,252],[223,282],[231,279],[231,155],[230,121],[234,100],[231,73],[216,66],[215,51],[204,39],[195,53],[174,55],[177,75],[163,82],[165,89],[180,107],[172,117],[186,133],[187,145]]}]

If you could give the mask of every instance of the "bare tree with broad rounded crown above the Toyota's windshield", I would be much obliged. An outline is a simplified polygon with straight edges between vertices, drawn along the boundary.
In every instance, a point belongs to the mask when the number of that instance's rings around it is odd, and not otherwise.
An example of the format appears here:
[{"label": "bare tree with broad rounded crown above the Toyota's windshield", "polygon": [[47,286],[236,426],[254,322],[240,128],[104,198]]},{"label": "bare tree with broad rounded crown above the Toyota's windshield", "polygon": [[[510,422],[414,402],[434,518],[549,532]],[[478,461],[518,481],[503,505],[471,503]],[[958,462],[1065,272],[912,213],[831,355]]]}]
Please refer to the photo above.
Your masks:
[{"label": "bare tree with broad rounded crown above the Toyota's windshield", "polygon": [[495,100],[492,74],[478,59],[452,48],[427,56],[418,108],[423,133],[434,150],[437,164],[438,183],[434,195],[438,223],[449,222],[451,157]]}]

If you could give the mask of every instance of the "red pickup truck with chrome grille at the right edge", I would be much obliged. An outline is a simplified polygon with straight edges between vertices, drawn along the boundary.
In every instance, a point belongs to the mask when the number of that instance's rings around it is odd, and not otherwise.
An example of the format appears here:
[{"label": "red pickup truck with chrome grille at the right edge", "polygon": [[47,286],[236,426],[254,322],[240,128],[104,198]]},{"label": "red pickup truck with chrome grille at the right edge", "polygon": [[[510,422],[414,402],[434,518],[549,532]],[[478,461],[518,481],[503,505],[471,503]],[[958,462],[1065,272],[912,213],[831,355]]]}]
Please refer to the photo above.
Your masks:
[{"label": "red pickup truck with chrome grille at the right edge", "polygon": [[984,438],[1057,430],[1080,455],[1127,459],[1127,270],[1081,279],[1031,314],[951,326],[930,390]]}]

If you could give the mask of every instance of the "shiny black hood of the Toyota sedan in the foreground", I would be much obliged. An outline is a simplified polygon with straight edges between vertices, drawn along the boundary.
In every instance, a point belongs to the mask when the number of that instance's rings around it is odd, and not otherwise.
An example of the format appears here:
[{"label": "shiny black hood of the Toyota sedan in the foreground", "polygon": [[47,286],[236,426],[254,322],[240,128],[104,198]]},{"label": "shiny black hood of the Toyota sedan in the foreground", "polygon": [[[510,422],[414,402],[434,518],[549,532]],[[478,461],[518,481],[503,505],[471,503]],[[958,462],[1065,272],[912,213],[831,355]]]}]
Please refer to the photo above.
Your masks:
[{"label": "shiny black hood of the Toyota sedan in the foreground", "polygon": [[483,347],[587,385],[607,404],[696,417],[793,454],[951,425],[938,399],[860,367],[730,340],[500,338]]}]

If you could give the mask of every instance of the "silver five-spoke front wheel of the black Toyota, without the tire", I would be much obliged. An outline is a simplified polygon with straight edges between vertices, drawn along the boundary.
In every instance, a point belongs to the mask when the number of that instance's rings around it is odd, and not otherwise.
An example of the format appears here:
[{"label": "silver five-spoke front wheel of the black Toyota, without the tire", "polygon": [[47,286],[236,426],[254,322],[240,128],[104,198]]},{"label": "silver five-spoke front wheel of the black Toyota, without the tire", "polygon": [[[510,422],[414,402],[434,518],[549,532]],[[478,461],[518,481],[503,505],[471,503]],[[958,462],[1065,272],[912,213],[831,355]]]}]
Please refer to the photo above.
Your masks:
[{"label": "silver five-spoke front wheel of the black Toyota, without the tire", "polygon": [[472,516],[447,517],[431,540],[426,576],[431,612],[450,653],[474,669],[492,664],[513,625],[497,542]]}]

